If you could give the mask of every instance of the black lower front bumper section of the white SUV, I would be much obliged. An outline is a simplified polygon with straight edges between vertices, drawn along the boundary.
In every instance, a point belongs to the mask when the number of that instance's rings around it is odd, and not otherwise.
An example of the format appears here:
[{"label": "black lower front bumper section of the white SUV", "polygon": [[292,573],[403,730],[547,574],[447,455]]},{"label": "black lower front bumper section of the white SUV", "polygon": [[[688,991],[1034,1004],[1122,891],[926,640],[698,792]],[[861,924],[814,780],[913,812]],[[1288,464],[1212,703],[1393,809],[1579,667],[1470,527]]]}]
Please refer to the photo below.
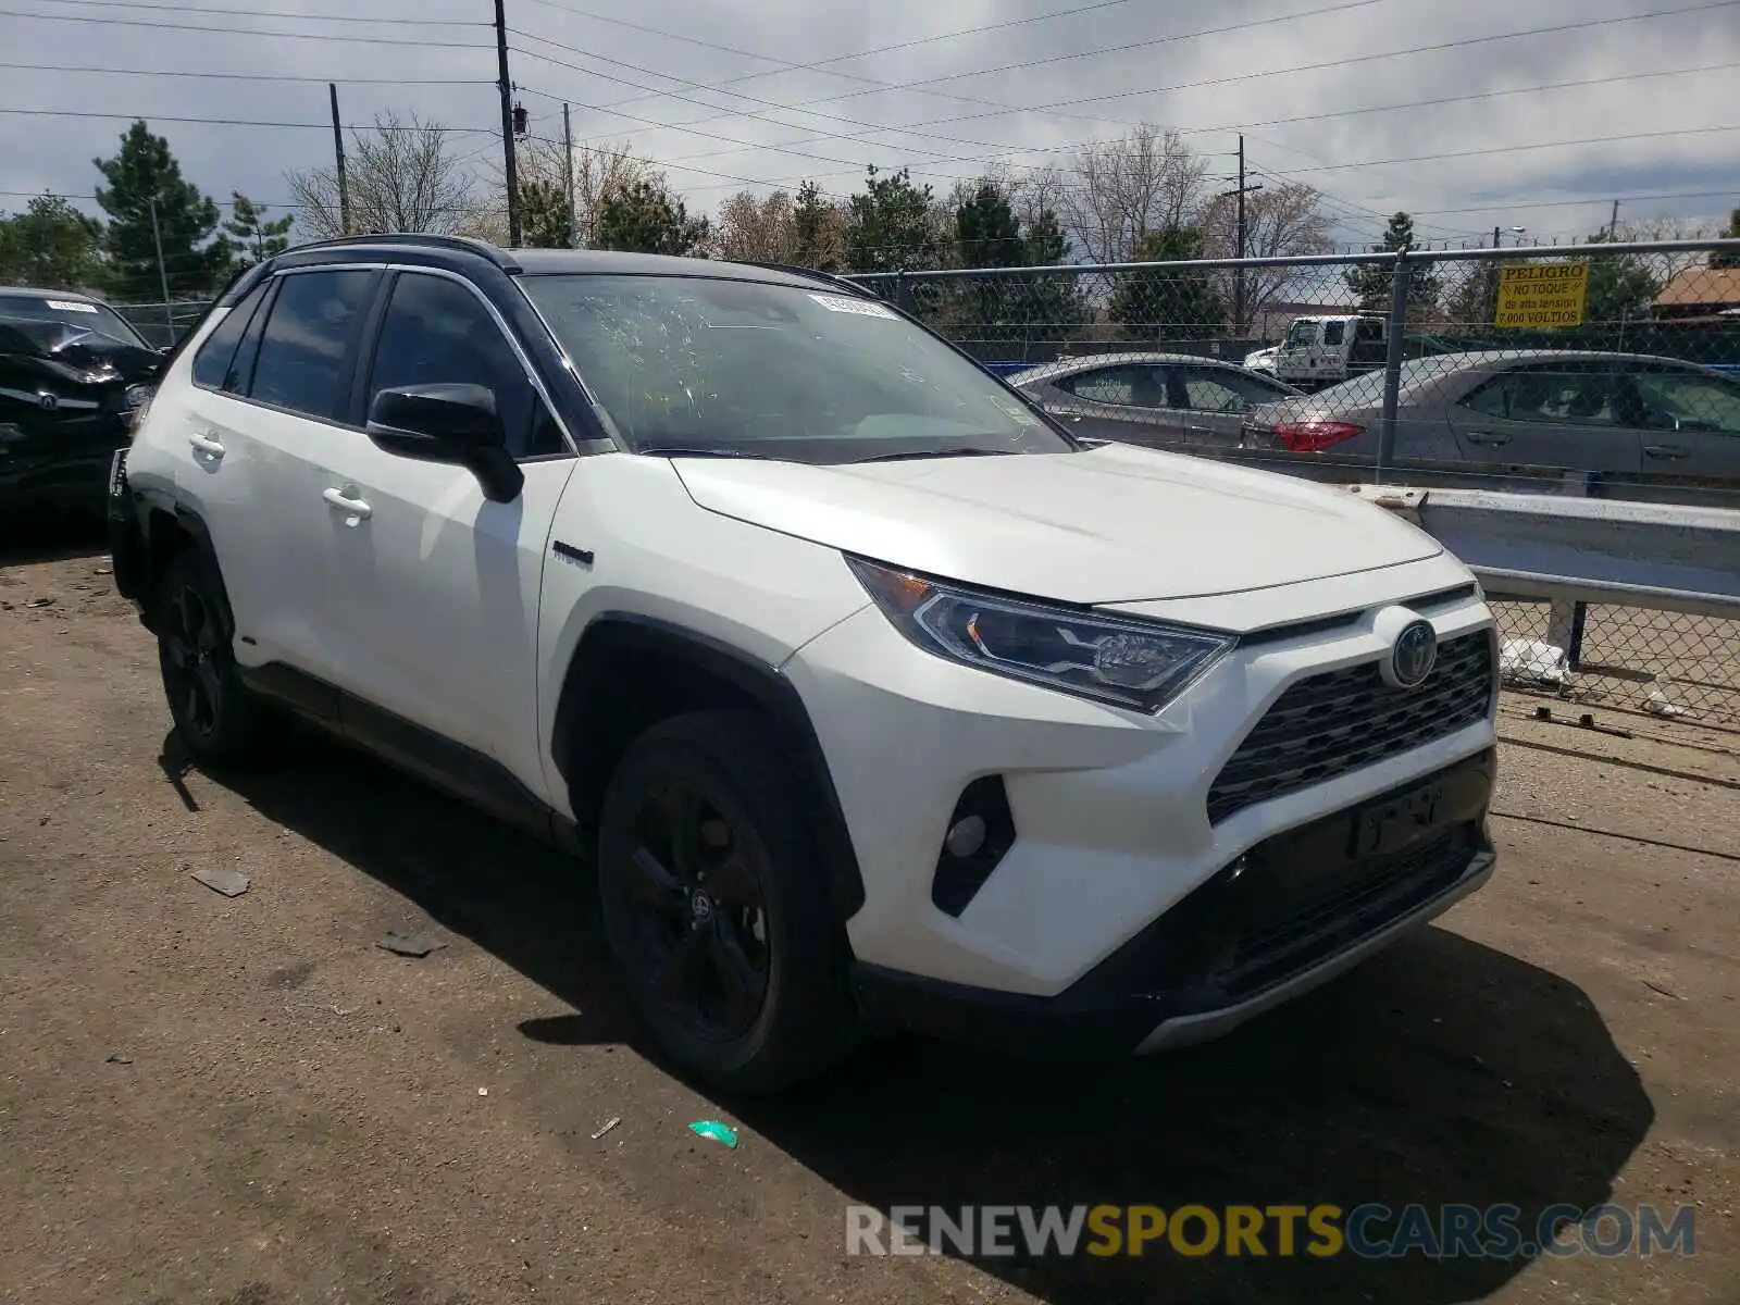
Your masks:
[{"label": "black lower front bumper section of the white SUV", "polygon": [[1054,997],[860,964],[877,1028],[1013,1053],[1161,1051],[1218,1037],[1418,929],[1493,873],[1495,753],[1387,799],[1441,792],[1436,818],[1383,856],[1350,854],[1361,804],[1265,839]]}]

